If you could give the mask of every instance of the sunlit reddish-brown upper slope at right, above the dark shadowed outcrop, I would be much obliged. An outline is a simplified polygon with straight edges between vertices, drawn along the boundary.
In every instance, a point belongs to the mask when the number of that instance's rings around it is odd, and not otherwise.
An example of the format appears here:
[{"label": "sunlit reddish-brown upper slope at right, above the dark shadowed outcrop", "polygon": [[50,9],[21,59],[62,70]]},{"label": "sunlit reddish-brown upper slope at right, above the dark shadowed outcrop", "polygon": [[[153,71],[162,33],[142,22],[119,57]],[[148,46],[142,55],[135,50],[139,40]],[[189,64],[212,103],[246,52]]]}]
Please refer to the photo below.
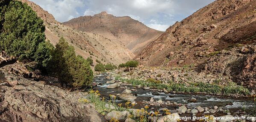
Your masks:
[{"label": "sunlit reddish-brown upper slope at right, above the dark shadowed outcrop", "polygon": [[203,63],[207,59],[203,55],[235,43],[224,41],[228,33],[255,20],[254,3],[255,0],[217,0],[170,26],[136,58],[149,66]]}]

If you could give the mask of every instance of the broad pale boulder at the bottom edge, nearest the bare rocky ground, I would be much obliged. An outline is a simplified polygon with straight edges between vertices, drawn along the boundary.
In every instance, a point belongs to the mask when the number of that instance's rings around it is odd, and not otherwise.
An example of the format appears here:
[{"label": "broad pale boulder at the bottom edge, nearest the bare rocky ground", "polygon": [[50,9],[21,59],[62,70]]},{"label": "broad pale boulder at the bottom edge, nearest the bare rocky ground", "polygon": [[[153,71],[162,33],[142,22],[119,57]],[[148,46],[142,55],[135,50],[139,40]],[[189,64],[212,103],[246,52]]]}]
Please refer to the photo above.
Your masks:
[{"label": "broad pale boulder at the bottom edge, nearest the bare rocky ground", "polygon": [[129,112],[128,111],[111,111],[105,115],[106,120],[111,120],[112,118],[117,119],[118,121],[125,121],[128,118]]}]

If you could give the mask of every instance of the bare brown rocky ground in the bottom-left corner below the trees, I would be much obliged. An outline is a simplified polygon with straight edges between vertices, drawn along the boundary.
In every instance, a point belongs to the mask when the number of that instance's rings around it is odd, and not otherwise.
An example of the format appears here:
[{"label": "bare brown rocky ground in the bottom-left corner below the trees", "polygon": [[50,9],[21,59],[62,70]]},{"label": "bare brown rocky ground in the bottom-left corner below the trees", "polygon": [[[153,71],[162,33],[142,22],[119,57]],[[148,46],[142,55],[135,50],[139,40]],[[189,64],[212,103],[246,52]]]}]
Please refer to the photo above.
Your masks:
[{"label": "bare brown rocky ground in the bottom-left corner below the trees", "polygon": [[42,77],[14,66],[0,69],[0,122],[105,122],[77,101],[82,93],[49,85],[52,78]]}]

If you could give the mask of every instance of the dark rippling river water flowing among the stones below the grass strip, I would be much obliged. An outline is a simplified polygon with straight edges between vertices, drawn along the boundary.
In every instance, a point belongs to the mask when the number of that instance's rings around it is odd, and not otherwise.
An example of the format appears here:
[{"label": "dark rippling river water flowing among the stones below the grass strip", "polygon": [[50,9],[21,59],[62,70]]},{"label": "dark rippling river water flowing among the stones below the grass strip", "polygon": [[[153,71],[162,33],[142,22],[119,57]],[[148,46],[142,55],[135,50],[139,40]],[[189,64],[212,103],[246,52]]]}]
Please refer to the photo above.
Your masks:
[{"label": "dark rippling river water flowing among the stones below the grass strip", "polygon": [[[94,78],[94,82],[100,84],[94,89],[99,90],[102,97],[109,98],[109,94],[116,95],[121,93],[124,88],[114,88],[114,89],[107,89],[106,87],[109,84],[106,84],[107,75],[98,75]],[[127,86],[132,88],[131,86]],[[144,107],[143,101],[150,101],[150,98],[153,97],[154,100],[162,99],[162,101],[172,101],[177,102],[180,104],[185,104],[188,108],[194,108],[196,106],[201,107],[227,107],[230,111],[236,111],[241,108],[245,108],[247,110],[253,109],[253,98],[233,98],[227,96],[212,96],[212,95],[204,95],[204,94],[175,94],[175,93],[159,93],[153,90],[143,90],[141,88],[137,89],[137,91],[132,91],[132,94],[137,96],[135,99],[137,105],[135,108],[142,108]],[[195,103],[189,103],[187,100],[191,99],[192,97],[197,99]],[[126,101],[117,99],[116,103],[125,103]],[[232,103],[232,105],[228,105]],[[151,106],[152,107],[152,106]],[[169,110],[175,110],[178,106],[153,106],[154,108],[159,107],[167,107]]]}]

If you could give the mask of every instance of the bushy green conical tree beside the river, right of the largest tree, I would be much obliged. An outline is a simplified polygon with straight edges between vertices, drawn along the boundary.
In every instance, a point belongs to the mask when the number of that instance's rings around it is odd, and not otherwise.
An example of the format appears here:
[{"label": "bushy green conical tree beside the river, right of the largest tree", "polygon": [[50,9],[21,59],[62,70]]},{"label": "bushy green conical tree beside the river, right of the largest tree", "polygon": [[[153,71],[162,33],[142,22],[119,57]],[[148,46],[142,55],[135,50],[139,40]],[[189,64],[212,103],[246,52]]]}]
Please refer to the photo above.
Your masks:
[{"label": "bushy green conical tree beside the river, right of the largest tree", "polygon": [[50,73],[55,75],[61,84],[71,84],[73,87],[89,85],[93,80],[91,67],[82,56],[75,54],[73,46],[69,46],[64,38],[60,38],[53,52]]}]

